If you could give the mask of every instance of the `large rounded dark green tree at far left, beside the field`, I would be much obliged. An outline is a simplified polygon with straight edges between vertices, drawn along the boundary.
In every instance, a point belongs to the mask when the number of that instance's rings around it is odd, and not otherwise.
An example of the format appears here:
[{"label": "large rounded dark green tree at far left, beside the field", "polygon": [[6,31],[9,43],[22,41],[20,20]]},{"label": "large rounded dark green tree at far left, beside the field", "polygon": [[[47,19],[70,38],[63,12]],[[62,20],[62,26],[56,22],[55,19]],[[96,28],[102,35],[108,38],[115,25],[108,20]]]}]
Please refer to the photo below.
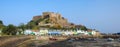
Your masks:
[{"label": "large rounded dark green tree at far left, beside the field", "polygon": [[2,30],[2,33],[6,34],[6,35],[16,35],[17,34],[17,27],[9,24],[8,26],[4,27]]}]

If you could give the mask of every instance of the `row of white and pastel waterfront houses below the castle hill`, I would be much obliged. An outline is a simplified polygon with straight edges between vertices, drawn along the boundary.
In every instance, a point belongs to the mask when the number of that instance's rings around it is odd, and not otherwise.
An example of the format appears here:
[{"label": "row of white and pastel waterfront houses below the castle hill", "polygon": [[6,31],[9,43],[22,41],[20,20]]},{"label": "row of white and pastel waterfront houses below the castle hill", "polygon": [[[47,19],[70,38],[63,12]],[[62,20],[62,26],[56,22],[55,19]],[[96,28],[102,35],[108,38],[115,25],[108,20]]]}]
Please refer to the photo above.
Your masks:
[{"label": "row of white and pastel waterfront houses below the castle hill", "polygon": [[47,30],[40,29],[39,31],[25,30],[25,35],[89,35],[98,36],[99,32],[96,30],[84,31],[84,30]]}]

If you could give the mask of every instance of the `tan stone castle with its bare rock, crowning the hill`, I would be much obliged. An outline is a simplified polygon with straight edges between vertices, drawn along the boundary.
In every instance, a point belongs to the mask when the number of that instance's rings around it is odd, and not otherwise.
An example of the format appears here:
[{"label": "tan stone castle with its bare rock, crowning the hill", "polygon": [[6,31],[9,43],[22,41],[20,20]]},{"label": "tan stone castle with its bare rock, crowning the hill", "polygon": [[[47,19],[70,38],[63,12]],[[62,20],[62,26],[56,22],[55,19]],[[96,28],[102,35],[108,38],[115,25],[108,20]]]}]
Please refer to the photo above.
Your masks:
[{"label": "tan stone castle with its bare rock, crowning the hill", "polygon": [[37,21],[38,26],[50,26],[50,27],[73,27],[67,19],[61,16],[59,13],[43,12],[40,16],[34,16],[32,21]]}]

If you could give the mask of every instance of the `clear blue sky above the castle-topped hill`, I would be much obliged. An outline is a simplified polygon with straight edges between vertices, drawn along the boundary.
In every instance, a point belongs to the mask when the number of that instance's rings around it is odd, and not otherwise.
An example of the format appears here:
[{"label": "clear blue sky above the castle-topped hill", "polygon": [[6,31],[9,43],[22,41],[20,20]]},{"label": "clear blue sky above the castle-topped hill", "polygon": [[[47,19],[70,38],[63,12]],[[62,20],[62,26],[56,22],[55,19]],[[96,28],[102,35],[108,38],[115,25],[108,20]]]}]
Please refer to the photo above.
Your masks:
[{"label": "clear blue sky above the castle-topped hill", "polygon": [[0,0],[5,25],[26,24],[42,12],[60,13],[69,22],[101,33],[120,32],[120,0]]}]

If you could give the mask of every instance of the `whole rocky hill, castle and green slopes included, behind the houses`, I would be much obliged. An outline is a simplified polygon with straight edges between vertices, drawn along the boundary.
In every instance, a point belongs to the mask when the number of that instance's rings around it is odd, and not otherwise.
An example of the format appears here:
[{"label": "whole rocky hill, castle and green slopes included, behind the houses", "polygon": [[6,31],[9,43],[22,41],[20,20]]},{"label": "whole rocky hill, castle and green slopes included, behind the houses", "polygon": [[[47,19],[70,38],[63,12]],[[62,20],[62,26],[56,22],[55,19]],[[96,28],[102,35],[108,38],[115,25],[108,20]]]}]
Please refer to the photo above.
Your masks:
[{"label": "whole rocky hill, castle and green slopes included, behind the houses", "polygon": [[[75,25],[68,22],[68,20],[62,17],[59,13],[43,12],[42,15],[34,16],[33,19],[27,24],[28,27],[39,26],[40,28],[56,28],[56,29],[83,29],[87,28],[83,25]],[[36,28],[36,27],[35,27]]]}]

